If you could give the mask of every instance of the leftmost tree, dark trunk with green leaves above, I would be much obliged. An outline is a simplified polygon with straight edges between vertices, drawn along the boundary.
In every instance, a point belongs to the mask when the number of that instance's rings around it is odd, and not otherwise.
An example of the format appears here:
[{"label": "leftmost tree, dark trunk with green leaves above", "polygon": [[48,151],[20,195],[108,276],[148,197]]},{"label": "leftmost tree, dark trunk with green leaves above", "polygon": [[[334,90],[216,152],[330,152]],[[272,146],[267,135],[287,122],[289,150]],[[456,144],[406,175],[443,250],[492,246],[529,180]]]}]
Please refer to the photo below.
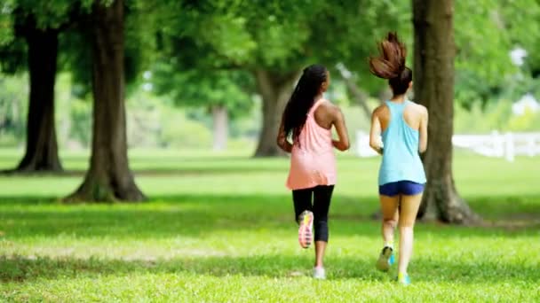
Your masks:
[{"label": "leftmost tree, dark trunk with green leaves above", "polygon": [[72,4],[67,0],[13,0],[1,8],[3,71],[14,73],[27,67],[30,83],[26,152],[16,170],[62,169],[54,122],[59,35],[81,7],[88,4],[88,1]]}]

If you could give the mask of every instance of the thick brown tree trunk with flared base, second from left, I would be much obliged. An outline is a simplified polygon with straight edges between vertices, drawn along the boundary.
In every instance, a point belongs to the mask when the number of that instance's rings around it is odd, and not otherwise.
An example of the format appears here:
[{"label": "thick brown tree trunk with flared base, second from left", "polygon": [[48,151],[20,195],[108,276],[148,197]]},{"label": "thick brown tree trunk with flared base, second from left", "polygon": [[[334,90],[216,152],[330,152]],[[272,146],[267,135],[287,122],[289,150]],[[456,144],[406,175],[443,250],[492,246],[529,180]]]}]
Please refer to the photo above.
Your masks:
[{"label": "thick brown tree trunk with flared base, second from left", "polygon": [[123,1],[92,7],[93,132],[90,168],[73,201],[140,201],[127,157]]}]

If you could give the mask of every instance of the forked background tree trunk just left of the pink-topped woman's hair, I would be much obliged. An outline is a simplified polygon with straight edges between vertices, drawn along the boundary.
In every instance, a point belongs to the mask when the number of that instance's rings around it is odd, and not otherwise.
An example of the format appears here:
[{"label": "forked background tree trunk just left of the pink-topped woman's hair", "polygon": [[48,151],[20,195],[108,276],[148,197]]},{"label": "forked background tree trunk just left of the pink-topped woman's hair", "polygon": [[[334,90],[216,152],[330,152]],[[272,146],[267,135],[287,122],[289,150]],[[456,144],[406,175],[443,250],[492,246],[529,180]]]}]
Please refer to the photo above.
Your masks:
[{"label": "forked background tree trunk just left of the pink-topped woman's hair", "polygon": [[298,78],[298,72],[275,74],[265,70],[257,70],[255,78],[258,93],[263,99],[263,124],[258,137],[255,157],[279,156],[283,153],[275,143],[275,139],[282,119],[283,109],[294,89],[293,85]]}]

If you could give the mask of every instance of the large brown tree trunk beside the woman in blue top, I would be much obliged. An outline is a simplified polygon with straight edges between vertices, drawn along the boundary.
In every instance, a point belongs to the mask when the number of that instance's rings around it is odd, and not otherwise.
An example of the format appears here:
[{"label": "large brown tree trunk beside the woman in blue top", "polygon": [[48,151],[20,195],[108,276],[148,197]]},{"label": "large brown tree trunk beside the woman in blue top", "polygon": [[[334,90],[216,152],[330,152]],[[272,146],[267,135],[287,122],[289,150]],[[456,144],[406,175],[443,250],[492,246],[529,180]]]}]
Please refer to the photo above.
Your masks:
[{"label": "large brown tree trunk beside the woman in blue top", "polygon": [[427,184],[419,217],[466,224],[478,216],[459,197],[452,175],[453,12],[453,0],[413,0],[415,98],[430,113],[424,155]]}]

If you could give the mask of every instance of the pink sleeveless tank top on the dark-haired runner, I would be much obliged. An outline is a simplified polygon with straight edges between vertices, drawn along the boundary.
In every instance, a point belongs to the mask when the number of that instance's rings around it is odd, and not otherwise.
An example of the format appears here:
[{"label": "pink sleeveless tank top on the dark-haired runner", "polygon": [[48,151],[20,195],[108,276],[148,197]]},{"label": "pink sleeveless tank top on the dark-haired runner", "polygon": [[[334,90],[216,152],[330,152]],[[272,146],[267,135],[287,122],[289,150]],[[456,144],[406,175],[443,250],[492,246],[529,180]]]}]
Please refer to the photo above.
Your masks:
[{"label": "pink sleeveless tank top on the dark-haired runner", "polygon": [[336,156],[332,144],[332,132],[315,121],[315,110],[325,102],[319,99],[307,113],[306,124],[290,152],[290,170],[287,187],[301,190],[317,185],[335,185]]}]

